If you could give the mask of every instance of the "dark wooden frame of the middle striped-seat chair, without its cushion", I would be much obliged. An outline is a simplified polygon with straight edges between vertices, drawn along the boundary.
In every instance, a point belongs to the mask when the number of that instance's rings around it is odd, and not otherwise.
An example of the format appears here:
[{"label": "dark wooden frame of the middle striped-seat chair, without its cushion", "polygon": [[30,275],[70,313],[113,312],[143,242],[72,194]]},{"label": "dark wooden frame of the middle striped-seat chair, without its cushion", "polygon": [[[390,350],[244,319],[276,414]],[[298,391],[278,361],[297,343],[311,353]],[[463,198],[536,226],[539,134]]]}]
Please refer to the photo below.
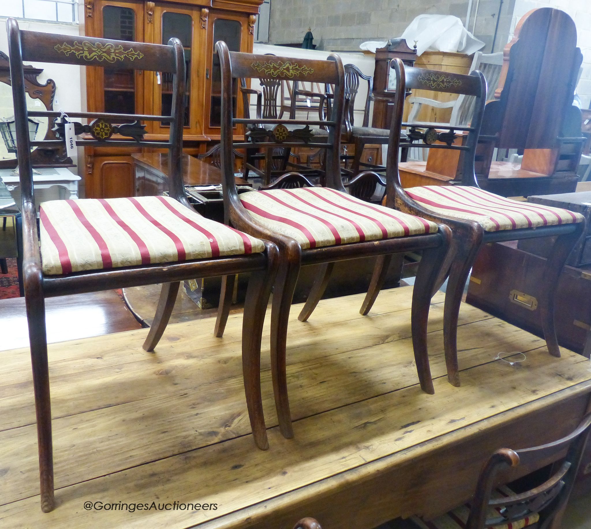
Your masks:
[{"label": "dark wooden frame of the middle striped-seat chair, without its cushion", "polygon": [[[326,187],[345,192],[340,175],[340,135],[342,130],[343,106],[345,94],[343,90],[345,73],[340,57],[331,54],[329,60],[297,60],[297,68],[291,68],[287,73],[280,69],[277,77],[290,75],[292,80],[307,80],[319,83],[331,83],[335,86],[332,115],[330,120],[313,122],[308,120],[278,119],[236,119],[232,117],[232,101],[230,99],[232,81],[241,77],[258,78],[261,73],[255,68],[261,68],[267,57],[231,52],[223,42],[216,44],[222,70],[222,173],[223,193],[226,221],[238,229],[272,241],[279,249],[278,273],[274,283],[274,293],[271,308],[271,370],[275,394],[275,406],[279,419],[280,431],[287,438],[293,437],[291,413],[287,394],[287,375],[285,370],[285,347],[287,339],[288,316],[298,273],[301,266],[312,264],[327,264],[355,259],[357,257],[402,253],[423,250],[423,261],[418,270],[417,282],[413,292],[412,334],[415,361],[421,388],[427,393],[433,393],[433,380],[427,355],[427,316],[431,299],[431,292],[435,286],[439,269],[447,253],[451,232],[449,228],[439,225],[437,233],[418,236],[397,237],[393,239],[363,241],[359,243],[341,244],[314,249],[302,249],[300,244],[291,237],[284,236],[257,223],[248,214],[236,192],[236,185],[232,174],[232,128],[234,125],[319,125],[327,127],[327,141],[302,143],[293,135],[289,135],[280,145],[307,145],[314,148],[326,149]],[[293,60],[284,57],[274,59],[281,65],[293,64]],[[268,77],[268,73],[265,73]],[[274,135],[273,135],[274,137]],[[262,147],[276,145],[267,136],[265,141],[259,142]],[[242,148],[242,145],[235,145]],[[317,280],[322,284],[323,277]],[[313,297],[314,294],[311,294]]]}]

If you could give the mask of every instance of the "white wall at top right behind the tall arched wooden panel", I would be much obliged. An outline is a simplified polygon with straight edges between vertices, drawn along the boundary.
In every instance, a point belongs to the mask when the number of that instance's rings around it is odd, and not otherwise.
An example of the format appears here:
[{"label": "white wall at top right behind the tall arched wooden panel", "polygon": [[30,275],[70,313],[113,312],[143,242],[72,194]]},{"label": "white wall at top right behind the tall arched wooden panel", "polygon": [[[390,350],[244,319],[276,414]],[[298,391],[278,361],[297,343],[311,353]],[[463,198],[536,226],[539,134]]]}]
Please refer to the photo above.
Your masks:
[{"label": "white wall at top right behind the tall arched wooden panel", "polygon": [[583,53],[583,71],[577,86],[584,109],[591,104],[591,0],[515,0],[509,39],[519,19],[531,9],[553,7],[566,11],[577,27],[577,45]]}]

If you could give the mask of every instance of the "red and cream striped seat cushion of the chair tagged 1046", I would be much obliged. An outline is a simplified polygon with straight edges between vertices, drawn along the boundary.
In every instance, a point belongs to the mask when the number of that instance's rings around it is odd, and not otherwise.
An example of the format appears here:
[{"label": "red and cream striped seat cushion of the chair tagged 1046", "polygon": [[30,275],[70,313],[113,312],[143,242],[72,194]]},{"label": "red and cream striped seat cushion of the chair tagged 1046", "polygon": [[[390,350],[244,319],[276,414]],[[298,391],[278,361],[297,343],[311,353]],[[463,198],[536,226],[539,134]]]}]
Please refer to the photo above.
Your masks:
[{"label": "red and cream striped seat cushion of the chair tagged 1046", "polygon": [[262,252],[261,240],[170,197],[53,200],[39,208],[46,275]]}]

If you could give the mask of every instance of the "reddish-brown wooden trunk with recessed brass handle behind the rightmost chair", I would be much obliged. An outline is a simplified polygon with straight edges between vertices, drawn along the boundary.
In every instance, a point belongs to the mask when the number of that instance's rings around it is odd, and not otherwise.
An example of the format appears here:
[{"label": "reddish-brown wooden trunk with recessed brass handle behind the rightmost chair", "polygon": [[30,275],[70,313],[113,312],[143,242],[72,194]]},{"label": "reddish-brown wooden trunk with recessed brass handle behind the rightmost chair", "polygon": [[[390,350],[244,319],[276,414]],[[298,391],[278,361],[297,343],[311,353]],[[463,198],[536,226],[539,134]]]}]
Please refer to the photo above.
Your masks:
[{"label": "reddish-brown wooden trunk with recessed brass handle behind the rightmost chair", "polygon": [[[543,337],[538,299],[544,284],[543,257],[515,243],[486,244],[472,268],[466,301]],[[565,266],[556,291],[558,344],[589,357],[591,267]],[[510,351],[506,351],[510,352]]]}]

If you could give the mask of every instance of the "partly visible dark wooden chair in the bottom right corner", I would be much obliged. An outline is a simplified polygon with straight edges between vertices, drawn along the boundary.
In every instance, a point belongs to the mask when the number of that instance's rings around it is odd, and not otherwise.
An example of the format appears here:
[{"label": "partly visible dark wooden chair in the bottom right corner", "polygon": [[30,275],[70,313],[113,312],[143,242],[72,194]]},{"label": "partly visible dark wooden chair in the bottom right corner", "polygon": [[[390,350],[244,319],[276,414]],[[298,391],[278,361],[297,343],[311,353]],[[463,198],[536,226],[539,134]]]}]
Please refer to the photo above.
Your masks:
[{"label": "partly visible dark wooden chair in the bottom right corner", "polygon": [[[478,477],[466,529],[496,527],[496,525],[522,520],[535,512],[540,515],[536,527],[539,529],[555,527],[554,524],[560,520],[561,512],[569,501],[590,433],[591,415],[587,415],[579,426],[563,439],[534,448],[522,450],[502,448],[493,453]],[[498,481],[499,471],[519,465],[539,468],[540,462],[552,461],[557,456],[560,458],[565,450],[567,450],[566,458],[554,465],[555,469],[557,467],[556,472],[553,472],[543,484],[521,494],[491,499],[491,492]],[[491,507],[499,514],[495,518],[487,519]]]}]

